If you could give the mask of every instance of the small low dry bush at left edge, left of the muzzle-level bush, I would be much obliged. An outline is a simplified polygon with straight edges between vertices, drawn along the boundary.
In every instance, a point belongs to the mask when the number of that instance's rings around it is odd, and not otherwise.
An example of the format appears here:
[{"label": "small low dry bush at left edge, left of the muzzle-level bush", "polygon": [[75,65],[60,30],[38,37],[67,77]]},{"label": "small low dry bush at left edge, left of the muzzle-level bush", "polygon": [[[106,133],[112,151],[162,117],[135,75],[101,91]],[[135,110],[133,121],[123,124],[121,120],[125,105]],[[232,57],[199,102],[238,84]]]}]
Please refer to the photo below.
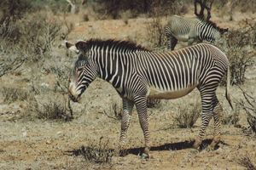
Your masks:
[{"label": "small low dry bush at left edge, left of the muzzle-level bush", "polygon": [[17,100],[23,101],[28,99],[29,94],[25,89],[20,88],[3,88],[3,102],[12,103]]}]

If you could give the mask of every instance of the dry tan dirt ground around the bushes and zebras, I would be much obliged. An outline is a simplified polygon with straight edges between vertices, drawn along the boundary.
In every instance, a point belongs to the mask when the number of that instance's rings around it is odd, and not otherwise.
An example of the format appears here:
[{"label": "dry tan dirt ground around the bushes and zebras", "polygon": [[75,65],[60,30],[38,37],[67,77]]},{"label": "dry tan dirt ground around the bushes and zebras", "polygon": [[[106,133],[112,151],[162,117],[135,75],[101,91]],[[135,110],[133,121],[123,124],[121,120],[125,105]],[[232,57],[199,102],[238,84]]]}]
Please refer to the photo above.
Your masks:
[{"label": "dry tan dirt ground around the bushes and zebras", "polygon": [[[189,14],[186,14],[189,15]],[[222,27],[237,27],[241,20],[252,14],[236,14],[236,20],[229,21],[213,16]],[[256,14],[253,14],[254,18]],[[72,20],[70,16],[69,20]],[[235,18],[235,17],[234,17]],[[68,35],[75,42],[87,37],[131,39],[147,45],[147,23],[151,19],[75,21],[74,30]],[[163,22],[165,22],[165,18]],[[61,42],[60,42],[61,43]],[[58,49],[65,53],[64,48]],[[256,57],[256,56],[255,56]],[[75,59],[74,59],[75,60]],[[256,94],[255,64],[247,72],[247,81],[242,88]],[[0,86],[27,88],[27,75],[32,71],[21,70],[21,75],[9,74],[0,78]],[[52,75],[40,75],[43,83],[54,83]],[[241,99],[239,88],[231,87],[232,100]],[[224,98],[224,88],[218,88],[218,97],[224,106],[224,114],[233,114]],[[193,104],[199,98],[195,90],[182,99],[163,100],[155,108],[148,109],[152,150],[148,161],[138,156],[143,147],[143,132],[139,126],[137,111],[134,110],[129,127],[126,149],[134,150],[127,156],[113,156],[110,163],[98,164],[84,159],[77,153],[81,146],[97,145],[102,142],[108,149],[117,150],[120,122],[104,114],[111,113],[111,105],[121,105],[121,99],[108,82],[96,79],[83,95],[81,103],[72,103],[74,119],[71,122],[20,118],[24,114],[26,101],[3,102],[0,94],[0,169],[245,169],[239,163],[243,156],[249,156],[256,165],[256,138],[247,135],[247,116],[239,111],[239,126],[223,125],[222,143],[217,150],[194,150],[190,141],[198,134],[201,120],[192,128],[179,128],[173,115],[177,105]],[[207,128],[207,139],[212,138],[213,124]],[[204,142],[207,146],[209,140]]]}]

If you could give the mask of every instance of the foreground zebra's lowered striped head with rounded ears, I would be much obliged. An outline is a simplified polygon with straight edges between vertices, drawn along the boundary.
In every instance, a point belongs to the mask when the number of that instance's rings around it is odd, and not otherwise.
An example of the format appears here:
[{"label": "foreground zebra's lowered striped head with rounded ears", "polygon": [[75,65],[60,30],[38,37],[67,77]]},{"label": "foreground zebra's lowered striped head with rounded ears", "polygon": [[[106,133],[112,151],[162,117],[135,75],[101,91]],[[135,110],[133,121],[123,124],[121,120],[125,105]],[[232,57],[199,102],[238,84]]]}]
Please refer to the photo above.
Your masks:
[{"label": "foreground zebra's lowered striped head with rounded ears", "polygon": [[86,42],[79,41],[74,45],[66,42],[66,47],[78,53],[78,59],[74,63],[73,70],[69,76],[68,96],[74,102],[79,102],[85,89],[96,78],[96,66],[90,59]]}]

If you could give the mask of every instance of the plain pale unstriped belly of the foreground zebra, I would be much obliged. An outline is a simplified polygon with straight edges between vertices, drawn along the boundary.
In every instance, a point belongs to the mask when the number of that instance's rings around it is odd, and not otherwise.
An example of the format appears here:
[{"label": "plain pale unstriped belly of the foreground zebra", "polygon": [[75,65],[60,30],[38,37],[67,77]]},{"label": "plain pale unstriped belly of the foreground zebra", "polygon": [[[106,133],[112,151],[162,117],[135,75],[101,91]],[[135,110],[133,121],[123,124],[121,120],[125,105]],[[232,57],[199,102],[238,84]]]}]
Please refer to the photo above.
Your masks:
[{"label": "plain pale unstriped belly of the foreground zebra", "polygon": [[177,98],[183,97],[184,95],[189,94],[195,87],[196,85],[190,86],[188,88],[176,90],[176,91],[164,91],[158,88],[151,87],[148,89],[149,91],[148,98],[149,99],[177,99]]}]

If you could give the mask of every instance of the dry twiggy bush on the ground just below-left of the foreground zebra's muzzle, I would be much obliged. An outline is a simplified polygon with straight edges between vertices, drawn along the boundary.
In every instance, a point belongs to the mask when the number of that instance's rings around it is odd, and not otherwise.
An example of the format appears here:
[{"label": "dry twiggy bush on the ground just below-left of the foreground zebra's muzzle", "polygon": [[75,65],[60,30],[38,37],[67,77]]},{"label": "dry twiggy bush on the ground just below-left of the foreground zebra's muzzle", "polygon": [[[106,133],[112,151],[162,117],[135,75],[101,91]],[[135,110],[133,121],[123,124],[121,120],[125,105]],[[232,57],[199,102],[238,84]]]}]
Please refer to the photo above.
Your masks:
[{"label": "dry twiggy bush on the ground just below-left of the foreground zebra's muzzle", "polygon": [[[54,95],[54,94],[48,94]],[[27,112],[31,116],[36,116],[38,119],[44,120],[57,120],[68,122],[73,119],[72,111],[70,111],[70,105],[64,97],[53,96],[52,98],[44,99],[44,97],[39,96],[36,99],[32,97],[28,101],[29,108]]]}]

